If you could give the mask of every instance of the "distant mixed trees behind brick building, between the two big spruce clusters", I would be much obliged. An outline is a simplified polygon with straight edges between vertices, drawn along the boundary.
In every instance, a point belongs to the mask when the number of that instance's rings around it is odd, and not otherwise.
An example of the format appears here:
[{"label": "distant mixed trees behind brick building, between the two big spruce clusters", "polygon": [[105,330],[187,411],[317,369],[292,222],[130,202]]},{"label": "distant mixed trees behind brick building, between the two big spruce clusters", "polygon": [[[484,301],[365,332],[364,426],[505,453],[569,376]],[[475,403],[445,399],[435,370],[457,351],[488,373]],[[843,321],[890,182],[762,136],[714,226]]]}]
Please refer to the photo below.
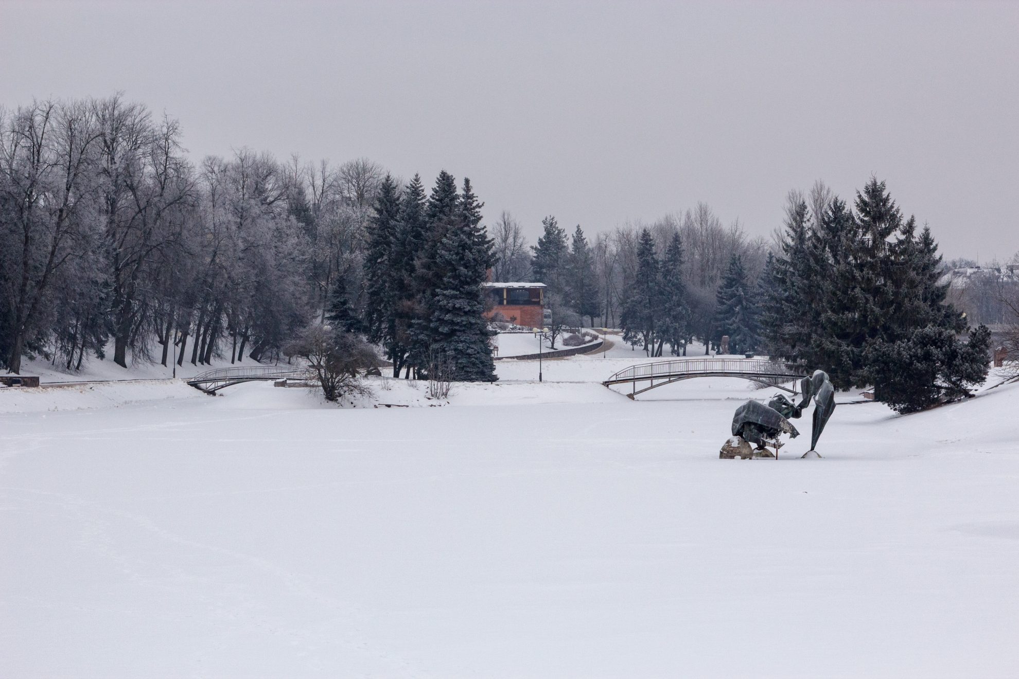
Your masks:
[{"label": "distant mixed trees behind brick building, between the two big spruce clusters", "polygon": [[749,238],[739,222],[725,227],[699,204],[651,224],[599,233],[593,241],[579,225],[568,233],[555,217],[542,226],[530,246],[513,216],[502,213],[493,228],[493,278],[545,283],[556,327],[622,328],[627,341],[650,355],[662,355],[666,346],[686,354],[695,339],[707,352],[723,335],[734,352],[759,348],[751,323],[757,313],[747,309],[756,308],[768,245]]}]

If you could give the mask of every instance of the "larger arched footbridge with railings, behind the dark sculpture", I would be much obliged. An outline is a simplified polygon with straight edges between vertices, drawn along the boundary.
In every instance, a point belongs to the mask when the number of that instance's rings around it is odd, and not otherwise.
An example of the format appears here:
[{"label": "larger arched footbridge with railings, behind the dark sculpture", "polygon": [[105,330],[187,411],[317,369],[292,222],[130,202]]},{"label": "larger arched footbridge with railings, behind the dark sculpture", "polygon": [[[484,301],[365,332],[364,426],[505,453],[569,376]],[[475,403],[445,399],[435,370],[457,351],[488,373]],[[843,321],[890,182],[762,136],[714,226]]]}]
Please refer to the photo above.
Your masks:
[{"label": "larger arched footbridge with railings, behind the dark sculpture", "polygon": [[[674,382],[693,380],[694,378],[741,378],[795,394],[795,389],[789,389],[780,383],[799,380],[806,375],[806,370],[799,365],[764,358],[690,358],[631,365],[601,384],[606,387],[618,384],[631,385],[631,392],[627,394],[631,399],[637,394],[643,394],[656,387],[664,387]],[[648,383],[646,386],[637,388],[638,383],[645,382]]]}]

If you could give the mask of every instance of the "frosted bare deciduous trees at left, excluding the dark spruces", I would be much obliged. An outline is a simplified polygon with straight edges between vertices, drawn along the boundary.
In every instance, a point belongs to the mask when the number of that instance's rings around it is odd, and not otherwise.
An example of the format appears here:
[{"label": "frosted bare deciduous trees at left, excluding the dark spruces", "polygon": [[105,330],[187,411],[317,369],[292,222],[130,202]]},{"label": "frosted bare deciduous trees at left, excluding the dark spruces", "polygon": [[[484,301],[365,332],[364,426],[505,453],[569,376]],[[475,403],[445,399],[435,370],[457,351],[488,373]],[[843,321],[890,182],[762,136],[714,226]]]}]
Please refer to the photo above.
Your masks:
[{"label": "frosted bare deciduous trees at left, excluding the dark spruces", "polygon": [[279,355],[337,278],[361,284],[384,172],[247,149],[198,166],[121,97],[0,112],[0,364]]}]

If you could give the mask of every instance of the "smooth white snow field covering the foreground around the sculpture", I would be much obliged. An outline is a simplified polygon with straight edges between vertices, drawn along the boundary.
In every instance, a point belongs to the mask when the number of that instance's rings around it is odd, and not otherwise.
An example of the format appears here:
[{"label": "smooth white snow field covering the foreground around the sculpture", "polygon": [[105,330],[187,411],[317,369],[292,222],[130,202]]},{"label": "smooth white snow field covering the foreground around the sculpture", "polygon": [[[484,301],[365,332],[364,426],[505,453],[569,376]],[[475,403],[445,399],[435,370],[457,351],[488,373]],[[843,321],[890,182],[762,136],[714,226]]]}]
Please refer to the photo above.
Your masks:
[{"label": "smooth white snow field covering the foreground around the sculpture", "polygon": [[1019,385],[719,460],[773,390],[598,384],[641,360],[0,390],[0,677],[1019,676]]}]

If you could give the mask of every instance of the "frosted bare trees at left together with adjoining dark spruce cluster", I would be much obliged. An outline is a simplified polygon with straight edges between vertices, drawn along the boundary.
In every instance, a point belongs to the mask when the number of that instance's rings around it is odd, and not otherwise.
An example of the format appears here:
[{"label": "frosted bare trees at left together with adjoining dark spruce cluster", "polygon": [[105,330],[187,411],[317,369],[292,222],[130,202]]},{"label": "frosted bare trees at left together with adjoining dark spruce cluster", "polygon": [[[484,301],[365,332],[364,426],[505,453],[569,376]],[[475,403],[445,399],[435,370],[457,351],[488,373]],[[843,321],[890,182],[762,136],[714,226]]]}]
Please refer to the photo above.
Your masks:
[{"label": "frosted bare trees at left together with adjoining dark spruce cluster", "polygon": [[177,121],[119,96],[0,112],[0,364],[272,360],[331,309],[394,371],[493,379],[481,207],[365,159],[196,166]]}]

